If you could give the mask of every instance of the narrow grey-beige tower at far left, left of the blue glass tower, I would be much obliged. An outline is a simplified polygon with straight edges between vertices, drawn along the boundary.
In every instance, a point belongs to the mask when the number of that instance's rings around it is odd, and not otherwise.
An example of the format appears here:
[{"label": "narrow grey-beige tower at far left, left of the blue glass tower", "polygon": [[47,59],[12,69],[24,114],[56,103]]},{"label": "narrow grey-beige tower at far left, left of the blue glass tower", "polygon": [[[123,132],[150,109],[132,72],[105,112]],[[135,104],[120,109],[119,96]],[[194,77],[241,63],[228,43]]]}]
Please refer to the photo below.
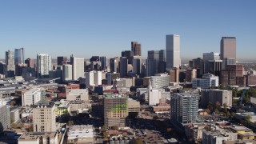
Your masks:
[{"label": "narrow grey-beige tower at far left, left of the blue glass tower", "polygon": [[14,65],[14,52],[6,51],[6,77],[14,77],[15,65]]}]

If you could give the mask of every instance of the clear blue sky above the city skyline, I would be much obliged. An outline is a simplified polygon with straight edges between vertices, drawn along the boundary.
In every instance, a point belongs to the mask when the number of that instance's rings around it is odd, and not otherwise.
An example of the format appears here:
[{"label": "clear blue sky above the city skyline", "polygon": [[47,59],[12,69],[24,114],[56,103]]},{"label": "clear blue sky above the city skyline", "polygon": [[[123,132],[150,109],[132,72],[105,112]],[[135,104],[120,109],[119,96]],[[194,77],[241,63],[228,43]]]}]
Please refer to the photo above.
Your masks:
[{"label": "clear blue sky above the city skyline", "polygon": [[166,34],[181,36],[182,58],[219,52],[222,36],[237,38],[237,57],[256,59],[255,0],[45,0],[0,2],[0,58],[24,47],[37,53],[120,56],[130,42],[147,50],[166,46]]}]

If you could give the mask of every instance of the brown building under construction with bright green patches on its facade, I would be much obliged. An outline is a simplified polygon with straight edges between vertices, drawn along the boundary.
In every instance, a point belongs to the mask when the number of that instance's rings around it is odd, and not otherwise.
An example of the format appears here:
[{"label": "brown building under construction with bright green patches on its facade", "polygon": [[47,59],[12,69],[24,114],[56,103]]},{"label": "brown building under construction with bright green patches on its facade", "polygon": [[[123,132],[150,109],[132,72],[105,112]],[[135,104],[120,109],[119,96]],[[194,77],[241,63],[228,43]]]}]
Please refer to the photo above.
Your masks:
[{"label": "brown building under construction with bright green patches on its facade", "polygon": [[128,117],[128,100],[125,97],[104,98],[104,125],[125,127]]}]

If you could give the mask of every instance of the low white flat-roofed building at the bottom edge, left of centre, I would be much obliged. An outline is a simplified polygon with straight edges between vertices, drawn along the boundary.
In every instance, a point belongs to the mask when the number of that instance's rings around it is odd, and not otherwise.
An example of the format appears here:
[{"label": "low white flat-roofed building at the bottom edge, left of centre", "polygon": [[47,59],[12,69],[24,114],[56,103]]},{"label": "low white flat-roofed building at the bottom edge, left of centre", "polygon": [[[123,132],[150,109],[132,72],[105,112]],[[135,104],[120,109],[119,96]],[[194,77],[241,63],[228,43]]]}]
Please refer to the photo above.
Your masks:
[{"label": "low white flat-roofed building at the bottom edge, left of centre", "polygon": [[68,142],[94,143],[94,128],[92,125],[74,125],[67,133]]}]

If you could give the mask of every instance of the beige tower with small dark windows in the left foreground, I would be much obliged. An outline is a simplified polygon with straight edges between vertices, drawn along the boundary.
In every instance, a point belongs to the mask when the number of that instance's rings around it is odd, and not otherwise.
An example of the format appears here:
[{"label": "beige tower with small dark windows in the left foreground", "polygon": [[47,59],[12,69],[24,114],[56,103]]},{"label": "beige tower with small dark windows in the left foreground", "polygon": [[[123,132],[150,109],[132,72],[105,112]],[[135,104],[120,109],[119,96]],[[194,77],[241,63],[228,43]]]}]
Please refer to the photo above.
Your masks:
[{"label": "beige tower with small dark windows in the left foreground", "polygon": [[55,132],[55,105],[50,101],[39,101],[33,107],[34,132]]}]

